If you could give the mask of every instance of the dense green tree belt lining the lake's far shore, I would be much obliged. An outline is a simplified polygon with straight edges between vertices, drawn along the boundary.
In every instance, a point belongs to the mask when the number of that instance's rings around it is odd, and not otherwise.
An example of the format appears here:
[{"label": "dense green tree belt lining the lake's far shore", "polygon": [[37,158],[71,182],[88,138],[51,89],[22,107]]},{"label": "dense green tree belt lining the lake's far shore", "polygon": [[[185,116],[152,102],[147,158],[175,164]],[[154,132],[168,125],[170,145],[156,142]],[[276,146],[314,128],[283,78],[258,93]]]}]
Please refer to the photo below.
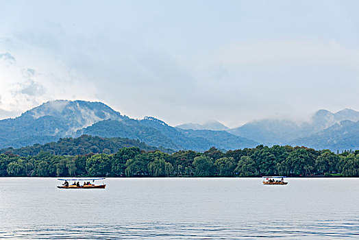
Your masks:
[{"label": "dense green tree belt lining the lake's far shore", "polygon": [[359,151],[279,146],[172,154],[123,147],[114,154],[0,155],[0,176],[359,176]]}]

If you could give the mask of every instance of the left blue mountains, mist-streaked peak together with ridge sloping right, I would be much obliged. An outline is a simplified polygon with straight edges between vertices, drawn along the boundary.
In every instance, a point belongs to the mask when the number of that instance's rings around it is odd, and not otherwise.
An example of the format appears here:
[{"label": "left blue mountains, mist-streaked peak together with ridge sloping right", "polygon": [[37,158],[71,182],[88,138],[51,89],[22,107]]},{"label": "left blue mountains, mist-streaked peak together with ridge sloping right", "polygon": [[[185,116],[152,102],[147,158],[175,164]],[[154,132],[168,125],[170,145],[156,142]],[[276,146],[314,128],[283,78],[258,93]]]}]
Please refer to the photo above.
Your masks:
[{"label": "left blue mountains, mist-streaked peak together with ridge sloping right", "polygon": [[184,134],[153,117],[129,119],[99,102],[58,100],[28,110],[15,119],[1,120],[0,147],[43,144],[82,134],[122,137],[143,141],[155,147],[197,151],[204,151],[209,147],[234,149],[258,145],[232,134],[226,134],[228,139],[219,141],[218,135],[224,137],[223,132],[202,131],[205,132]]}]

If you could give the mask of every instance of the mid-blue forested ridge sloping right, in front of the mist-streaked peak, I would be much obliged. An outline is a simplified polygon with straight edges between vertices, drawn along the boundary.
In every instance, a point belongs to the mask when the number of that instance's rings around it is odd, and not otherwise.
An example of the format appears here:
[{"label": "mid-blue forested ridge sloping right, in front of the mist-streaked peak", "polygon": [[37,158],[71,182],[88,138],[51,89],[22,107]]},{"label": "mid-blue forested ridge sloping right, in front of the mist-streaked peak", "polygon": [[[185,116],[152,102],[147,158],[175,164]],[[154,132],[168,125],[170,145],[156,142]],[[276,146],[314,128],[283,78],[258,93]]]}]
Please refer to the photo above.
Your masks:
[{"label": "mid-blue forested ridge sloping right, in front of the mist-streaked peak", "polygon": [[[123,121],[99,121],[88,128],[77,131],[77,135],[89,134],[103,137],[125,137],[138,139],[149,145],[171,149],[194,149],[205,151],[216,146],[222,149],[255,147],[255,141],[234,136],[224,131],[190,130],[173,128],[154,117],[142,120],[123,119]],[[221,138],[219,138],[221,136]]]}]

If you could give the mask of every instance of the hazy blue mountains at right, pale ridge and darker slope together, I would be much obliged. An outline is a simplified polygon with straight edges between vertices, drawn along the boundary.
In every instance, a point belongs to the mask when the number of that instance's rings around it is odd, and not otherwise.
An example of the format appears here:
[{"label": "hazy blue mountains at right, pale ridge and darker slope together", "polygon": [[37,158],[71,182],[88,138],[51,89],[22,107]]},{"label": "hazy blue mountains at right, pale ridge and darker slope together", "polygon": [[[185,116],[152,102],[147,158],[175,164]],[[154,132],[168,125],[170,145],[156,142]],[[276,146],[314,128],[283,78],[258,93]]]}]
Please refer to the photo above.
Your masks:
[{"label": "hazy blue mountains at right, pale ridge and darker slope together", "polygon": [[[303,145],[315,149],[343,151],[359,149],[358,121],[359,112],[356,110],[346,108],[335,113],[318,110],[307,121],[259,119],[245,123],[238,128],[228,128],[227,132],[263,145]],[[197,128],[194,123],[186,123],[177,127],[190,128],[191,126]]]}]

